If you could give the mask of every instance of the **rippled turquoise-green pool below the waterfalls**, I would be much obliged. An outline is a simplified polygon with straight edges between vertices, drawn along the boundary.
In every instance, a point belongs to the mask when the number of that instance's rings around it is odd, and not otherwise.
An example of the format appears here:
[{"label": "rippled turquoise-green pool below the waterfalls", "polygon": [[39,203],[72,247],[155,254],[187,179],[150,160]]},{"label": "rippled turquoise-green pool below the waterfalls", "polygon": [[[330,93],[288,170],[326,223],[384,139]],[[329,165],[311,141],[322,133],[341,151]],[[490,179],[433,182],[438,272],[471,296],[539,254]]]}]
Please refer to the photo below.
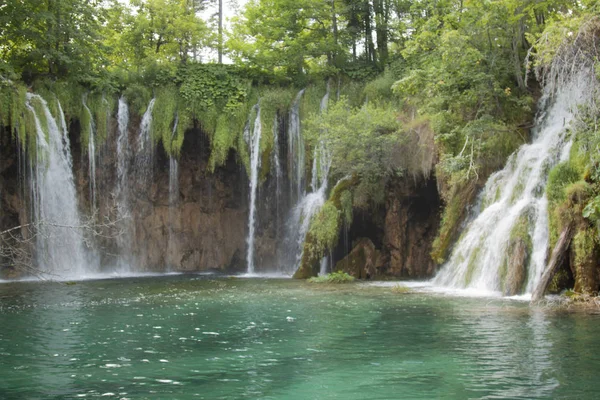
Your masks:
[{"label": "rippled turquoise-green pool below the waterfalls", "polygon": [[352,284],[0,285],[0,398],[596,398],[600,320]]}]

